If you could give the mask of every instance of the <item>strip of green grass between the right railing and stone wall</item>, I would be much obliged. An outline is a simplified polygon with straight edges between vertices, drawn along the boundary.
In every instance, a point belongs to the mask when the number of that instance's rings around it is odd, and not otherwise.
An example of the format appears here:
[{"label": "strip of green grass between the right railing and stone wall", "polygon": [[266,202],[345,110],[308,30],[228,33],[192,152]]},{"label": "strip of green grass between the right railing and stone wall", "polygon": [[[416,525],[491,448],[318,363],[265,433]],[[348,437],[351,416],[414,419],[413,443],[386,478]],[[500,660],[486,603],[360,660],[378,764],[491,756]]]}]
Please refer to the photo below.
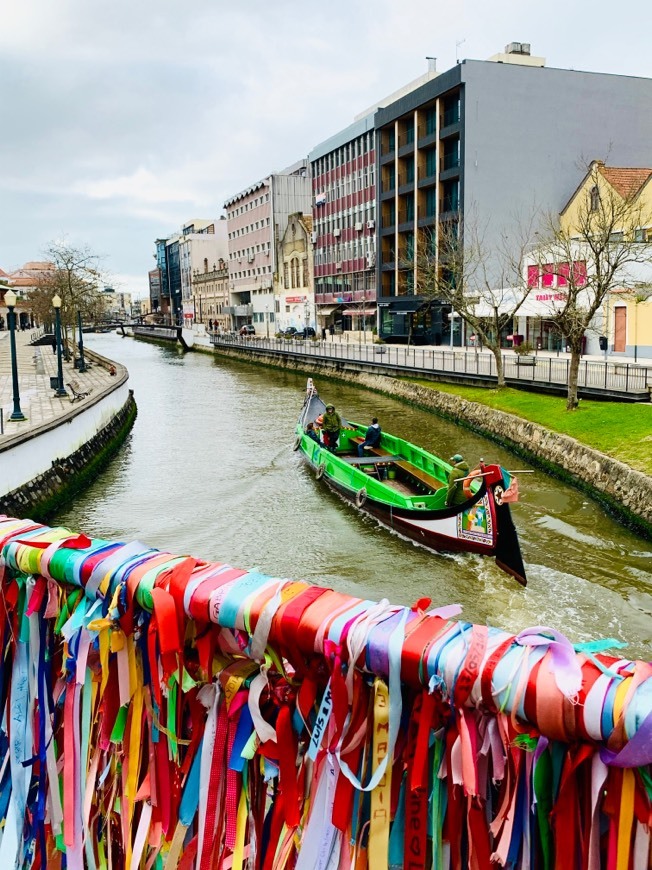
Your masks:
[{"label": "strip of green grass between the right railing and stone wall", "polygon": [[531,420],[576,438],[630,468],[652,475],[652,405],[648,403],[591,402],[582,399],[577,411],[566,411],[566,399],[504,388],[492,390],[453,384],[434,384],[415,378],[410,383],[449,393]]}]

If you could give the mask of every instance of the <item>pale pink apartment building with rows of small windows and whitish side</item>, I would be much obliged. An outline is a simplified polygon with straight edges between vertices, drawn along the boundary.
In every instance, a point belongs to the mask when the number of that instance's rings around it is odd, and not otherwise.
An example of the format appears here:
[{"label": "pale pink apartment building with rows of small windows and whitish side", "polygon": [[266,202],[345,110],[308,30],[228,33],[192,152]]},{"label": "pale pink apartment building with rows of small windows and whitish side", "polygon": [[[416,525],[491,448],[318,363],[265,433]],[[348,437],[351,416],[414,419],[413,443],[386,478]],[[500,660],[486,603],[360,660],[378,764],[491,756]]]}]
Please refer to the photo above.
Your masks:
[{"label": "pale pink apartment building with rows of small windows and whitish side", "polygon": [[235,327],[262,325],[268,312],[278,313],[281,276],[278,246],[291,214],[310,213],[307,161],[300,160],[230,197],[227,220],[228,313]]}]

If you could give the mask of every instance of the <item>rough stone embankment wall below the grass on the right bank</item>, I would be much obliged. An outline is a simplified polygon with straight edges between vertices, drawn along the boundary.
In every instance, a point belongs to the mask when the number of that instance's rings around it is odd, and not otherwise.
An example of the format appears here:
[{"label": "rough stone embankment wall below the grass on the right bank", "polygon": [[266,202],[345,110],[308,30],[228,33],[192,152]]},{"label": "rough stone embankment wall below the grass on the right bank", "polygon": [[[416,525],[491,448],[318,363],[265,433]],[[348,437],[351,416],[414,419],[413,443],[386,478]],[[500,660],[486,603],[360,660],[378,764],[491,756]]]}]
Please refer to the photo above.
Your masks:
[{"label": "rough stone embankment wall below the grass on the right bank", "polygon": [[[226,355],[248,362],[306,371],[305,364],[275,354],[252,355],[246,351],[220,348]],[[623,462],[592,450],[574,438],[551,432],[504,411],[495,411],[435,389],[421,387],[387,375],[348,370],[341,362],[312,366],[307,374],[336,378],[350,384],[392,396],[433,411],[461,426],[513,450],[532,464],[566,480],[595,498],[628,525],[652,537],[652,477],[635,471]]]}]

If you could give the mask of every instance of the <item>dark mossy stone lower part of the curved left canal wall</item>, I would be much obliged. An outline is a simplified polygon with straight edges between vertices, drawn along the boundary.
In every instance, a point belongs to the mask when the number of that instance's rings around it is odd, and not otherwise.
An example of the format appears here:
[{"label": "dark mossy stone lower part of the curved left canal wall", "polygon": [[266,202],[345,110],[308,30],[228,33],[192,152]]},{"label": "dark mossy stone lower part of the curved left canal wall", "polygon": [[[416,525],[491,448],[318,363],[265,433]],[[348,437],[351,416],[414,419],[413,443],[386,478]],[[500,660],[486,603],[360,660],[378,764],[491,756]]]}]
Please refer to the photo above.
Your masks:
[{"label": "dark mossy stone lower part of the curved left canal wall", "polygon": [[56,459],[43,474],[0,497],[0,514],[45,520],[84,489],[111,460],[136,419],[133,390],[111,421],[70,456]]}]

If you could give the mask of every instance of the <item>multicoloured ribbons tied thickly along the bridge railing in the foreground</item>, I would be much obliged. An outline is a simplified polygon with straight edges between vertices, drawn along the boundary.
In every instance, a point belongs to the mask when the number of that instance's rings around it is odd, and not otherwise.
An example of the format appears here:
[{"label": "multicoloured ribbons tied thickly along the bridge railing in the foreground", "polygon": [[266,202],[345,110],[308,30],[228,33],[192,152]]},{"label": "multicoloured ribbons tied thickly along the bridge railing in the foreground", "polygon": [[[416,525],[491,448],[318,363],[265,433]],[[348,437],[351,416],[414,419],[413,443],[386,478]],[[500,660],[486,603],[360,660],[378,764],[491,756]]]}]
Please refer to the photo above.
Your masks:
[{"label": "multicoloured ribbons tied thickly along the bridge railing in the foreground", "polygon": [[2,868],[648,866],[648,663],[30,520],[0,553]]}]

